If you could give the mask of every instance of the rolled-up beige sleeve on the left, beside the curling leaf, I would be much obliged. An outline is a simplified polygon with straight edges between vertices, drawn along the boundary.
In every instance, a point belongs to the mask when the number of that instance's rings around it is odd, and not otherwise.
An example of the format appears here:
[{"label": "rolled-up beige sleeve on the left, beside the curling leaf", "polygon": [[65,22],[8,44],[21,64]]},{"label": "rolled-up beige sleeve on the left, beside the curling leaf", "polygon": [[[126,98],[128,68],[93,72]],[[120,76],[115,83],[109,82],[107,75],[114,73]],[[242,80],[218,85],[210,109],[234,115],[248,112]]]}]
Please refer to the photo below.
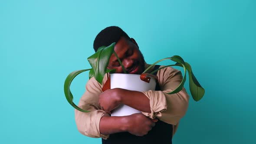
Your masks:
[{"label": "rolled-up beige sleeve on the left, beside the curling leaf", "polygon": [[[106,79],[103,79],[103,82]],[[99,130],[99,123],[102,117],[108,114],[100,110],[98,95],[102,93],[102,86],[93,77],[85,86],[85,93],[79,101],[79,108],[90,112],[82,112],[75,109],[75,122],[78,131],[88,137],[102,137],[107,139],[109,135],[103,135]]]}]

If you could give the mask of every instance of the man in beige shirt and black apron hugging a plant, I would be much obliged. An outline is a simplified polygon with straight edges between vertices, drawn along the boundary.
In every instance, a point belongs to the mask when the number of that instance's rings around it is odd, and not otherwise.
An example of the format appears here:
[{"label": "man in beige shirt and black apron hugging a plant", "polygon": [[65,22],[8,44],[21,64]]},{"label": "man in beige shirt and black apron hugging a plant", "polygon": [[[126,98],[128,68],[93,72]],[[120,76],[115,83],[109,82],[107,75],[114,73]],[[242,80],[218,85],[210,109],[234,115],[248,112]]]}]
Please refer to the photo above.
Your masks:
[{"label": "man in beige shirt and black apron hugging a plant", "polygon": [[[98,33],[93,44],[95,52],[99,47],[109,46],[114,42],[114,50],[127,73],[141,74],[148,67],[135,39],[117,26],[107,27]],[[108,69],[123,73],[114,54],[109,60]],[[89,137],[102,137],[103,144],[171,144],[177,125],[187,111],[189,95],[184,88],[176,94],[167,94],[182,81],[181,72],[177,69],[167,67],[159,70],[156,75],[159,79],[158,88],[147,92],[122,88],[102,92],[109,74],[105,75],[102,85],[94,78],[90,79],[79,101],[79,107],[91,112],[75,110],[79,132]],[[111,111],[121,104],[141,113],[111,117]]]}]

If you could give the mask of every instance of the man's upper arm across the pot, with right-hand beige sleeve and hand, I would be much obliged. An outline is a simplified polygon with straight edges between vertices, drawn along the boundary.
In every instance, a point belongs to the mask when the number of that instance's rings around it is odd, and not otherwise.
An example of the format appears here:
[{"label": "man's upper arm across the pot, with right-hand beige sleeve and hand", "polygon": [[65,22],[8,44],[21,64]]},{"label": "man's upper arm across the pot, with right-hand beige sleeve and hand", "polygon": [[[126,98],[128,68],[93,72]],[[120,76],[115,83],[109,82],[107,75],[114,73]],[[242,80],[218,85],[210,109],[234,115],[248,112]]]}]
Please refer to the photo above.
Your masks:
[{"label": "man's upper arm across the pot, with right-hand beige sleeve and hand", "polygon": [[182,81],[182,74],[171,67],[158,72],[161,91],[137,92],[121,88],[109,89],[99,96],[99,105],[107,113],[120,104],[128,105],[141,111],[150,118],[176,125],[185,115],[188,107],[189,95],[183,88],[181,92],[169,95]]}]

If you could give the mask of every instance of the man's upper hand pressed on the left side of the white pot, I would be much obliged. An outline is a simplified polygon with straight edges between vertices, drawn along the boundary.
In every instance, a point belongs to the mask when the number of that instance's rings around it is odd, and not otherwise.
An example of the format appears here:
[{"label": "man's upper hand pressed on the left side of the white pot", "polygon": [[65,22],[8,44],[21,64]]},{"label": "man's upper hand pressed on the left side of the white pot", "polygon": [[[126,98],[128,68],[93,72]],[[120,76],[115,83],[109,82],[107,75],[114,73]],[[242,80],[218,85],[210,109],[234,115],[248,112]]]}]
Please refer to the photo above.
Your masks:
[{"label": "man's upper hand pressed on the left side of the white pot", "polygon": [[120,90],[121,88],[108,89],[99,95],[98,104],[103,111],[111,114],[111,111],[121,104]]}]

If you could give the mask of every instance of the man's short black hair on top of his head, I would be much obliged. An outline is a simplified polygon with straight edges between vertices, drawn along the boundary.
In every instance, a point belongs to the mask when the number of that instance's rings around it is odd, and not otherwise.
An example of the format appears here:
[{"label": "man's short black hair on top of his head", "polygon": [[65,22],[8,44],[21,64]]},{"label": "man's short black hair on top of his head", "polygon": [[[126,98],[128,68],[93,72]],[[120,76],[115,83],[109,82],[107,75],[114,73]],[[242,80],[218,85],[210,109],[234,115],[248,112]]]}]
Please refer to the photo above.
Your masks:
[{"label": "man's short black hair on top of his head", "polygon": [[130,37],[118,26],[109,26],[98,33],[93,42],[93,49],[97,52],[101,46],[109,46],[117,43],[121,37],[130,39]]}]

